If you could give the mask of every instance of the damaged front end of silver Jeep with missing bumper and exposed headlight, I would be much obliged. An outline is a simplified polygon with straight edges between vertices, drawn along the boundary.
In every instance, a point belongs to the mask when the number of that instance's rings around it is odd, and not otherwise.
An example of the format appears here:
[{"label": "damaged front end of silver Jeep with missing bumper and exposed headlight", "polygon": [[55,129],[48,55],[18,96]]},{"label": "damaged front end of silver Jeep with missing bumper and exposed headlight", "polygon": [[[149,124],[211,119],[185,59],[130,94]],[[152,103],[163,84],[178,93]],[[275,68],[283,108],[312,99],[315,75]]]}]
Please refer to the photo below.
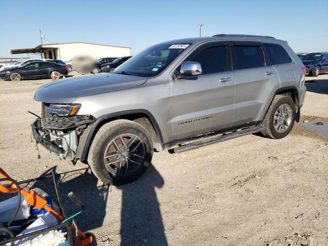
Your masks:
[{"label": "damaged front end of silver Jeep with missing bumper and exposed headlight", "polygon": [[32,124],[32,134],[37,144],[73,163],[77,160],[81,135],[96,120],[92,115],[75,115],[78,107],[42,103],[42,117]]}]

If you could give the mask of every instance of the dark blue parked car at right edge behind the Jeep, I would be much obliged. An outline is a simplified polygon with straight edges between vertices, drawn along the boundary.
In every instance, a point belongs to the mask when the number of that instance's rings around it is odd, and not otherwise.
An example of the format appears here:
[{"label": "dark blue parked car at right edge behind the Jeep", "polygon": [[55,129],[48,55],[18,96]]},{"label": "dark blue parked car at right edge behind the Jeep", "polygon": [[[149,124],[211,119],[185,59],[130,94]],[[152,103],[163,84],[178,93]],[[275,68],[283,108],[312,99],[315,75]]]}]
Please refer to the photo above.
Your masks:
[{"label": "dark blue parked car at right edge behind the Jeep", "polygon": [[306,68],[306,75],[318,77],[320,72],[328,72],[328,53],[309,53],[300,59]]}]

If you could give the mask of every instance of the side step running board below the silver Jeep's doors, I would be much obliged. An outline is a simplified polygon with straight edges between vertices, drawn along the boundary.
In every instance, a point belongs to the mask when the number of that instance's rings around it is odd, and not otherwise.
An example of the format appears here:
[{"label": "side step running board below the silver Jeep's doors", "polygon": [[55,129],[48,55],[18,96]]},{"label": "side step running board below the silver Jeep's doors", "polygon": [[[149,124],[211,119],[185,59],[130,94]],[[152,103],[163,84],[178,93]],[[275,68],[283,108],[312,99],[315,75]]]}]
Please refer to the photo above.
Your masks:
[{"label": "side step running board below the silver Jeep's doors", "polygon": [[233,139],[236,137],[241,137],[241,136],[245,136],[248,134],[257,133],[257,132],[263,131],[264,129],[265,129],[265,127],[249,127],[249,128],[237,130],[235,132],[232,132],[232,133],[229,133],[226,135],[218,135],[218,136],[208,137],[205,139],[191,142],[190,144],[187,144],[187,145],[177,147],[174,149],[174,153],[181,153],[181,152],[185,152],[188,150],[197,149],[199,147],[216,144],[217,142],[223,142],[223,141],[230,140],[230,139]]}]

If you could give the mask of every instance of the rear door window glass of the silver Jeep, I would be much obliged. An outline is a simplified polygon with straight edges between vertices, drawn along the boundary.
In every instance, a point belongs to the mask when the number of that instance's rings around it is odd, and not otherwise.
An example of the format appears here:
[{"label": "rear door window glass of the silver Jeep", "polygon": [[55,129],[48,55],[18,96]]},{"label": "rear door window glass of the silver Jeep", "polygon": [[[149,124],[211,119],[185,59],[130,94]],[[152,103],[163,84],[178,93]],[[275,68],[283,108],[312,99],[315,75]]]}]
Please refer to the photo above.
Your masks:
[{"label": "rear door window glass of the silver Jeep", "polygon": [[237,69],[264,67],[264,54],[260,46],[234,46]]}]

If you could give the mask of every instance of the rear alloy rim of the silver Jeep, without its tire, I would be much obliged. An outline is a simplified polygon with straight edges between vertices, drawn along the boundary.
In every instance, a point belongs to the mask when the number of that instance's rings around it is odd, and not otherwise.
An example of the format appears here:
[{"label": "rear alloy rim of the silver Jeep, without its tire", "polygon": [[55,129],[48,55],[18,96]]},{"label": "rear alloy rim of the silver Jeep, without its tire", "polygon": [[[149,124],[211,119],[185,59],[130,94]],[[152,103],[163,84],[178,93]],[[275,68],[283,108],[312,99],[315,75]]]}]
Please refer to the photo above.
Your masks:
[{"label": "rear alloy rim of the silver Jeep, without its tire", "polygon": [[274,116],[274,127],[277,132],[286,131],[292,121],[293,111],[288,104],[282,104],[276,111]]}]

